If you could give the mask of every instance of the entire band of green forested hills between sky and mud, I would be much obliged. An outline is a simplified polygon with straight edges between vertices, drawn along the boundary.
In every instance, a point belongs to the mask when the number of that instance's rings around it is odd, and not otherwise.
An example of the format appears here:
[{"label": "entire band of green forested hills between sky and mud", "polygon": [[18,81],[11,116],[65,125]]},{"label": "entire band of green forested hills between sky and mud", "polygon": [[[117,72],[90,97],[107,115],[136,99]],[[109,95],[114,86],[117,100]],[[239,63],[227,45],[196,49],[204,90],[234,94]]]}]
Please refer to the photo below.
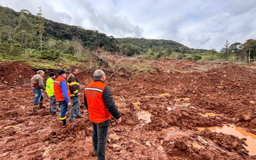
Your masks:
[{"label": "entire band of green forested hills between sky and mud", "polygon": [[220,52],[215,49],[193,49],[172,40],[145,38],[114,38],[97,30],[71,26],[43,17],[39,7],[36,15],[28,10],[16,12],[0,6],[0,58],[15,60],[34,58],[58,60],[60,57],[80,59],[99,47],[107,52],[148,59],[177,58],[184,60],[231,60],[250,63],[256,56],[256,40],[244,44],[228,41]]}]

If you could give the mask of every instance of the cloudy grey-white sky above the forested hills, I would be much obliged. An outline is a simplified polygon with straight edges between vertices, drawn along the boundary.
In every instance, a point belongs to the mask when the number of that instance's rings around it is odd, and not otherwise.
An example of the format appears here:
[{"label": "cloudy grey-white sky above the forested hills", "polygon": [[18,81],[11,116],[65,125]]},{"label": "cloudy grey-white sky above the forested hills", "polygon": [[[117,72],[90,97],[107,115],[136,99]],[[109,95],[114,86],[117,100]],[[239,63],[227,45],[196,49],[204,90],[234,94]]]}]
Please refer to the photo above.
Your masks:
[{"label": "cloudy grey-white sky above the forested hills", "polygon": [[169,39],[216,48],[256,38],[256,0],[1,0],[15,11],[97,29],[108,36]]}]

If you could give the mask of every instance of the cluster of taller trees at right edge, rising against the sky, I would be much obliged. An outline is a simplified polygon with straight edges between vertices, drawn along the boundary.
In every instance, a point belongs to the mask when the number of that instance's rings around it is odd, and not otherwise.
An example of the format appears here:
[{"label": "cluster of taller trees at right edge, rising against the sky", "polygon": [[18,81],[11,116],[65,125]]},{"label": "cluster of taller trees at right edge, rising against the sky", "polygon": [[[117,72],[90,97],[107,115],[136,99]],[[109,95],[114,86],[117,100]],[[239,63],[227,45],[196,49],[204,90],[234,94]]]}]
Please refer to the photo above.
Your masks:
[{"label": "cluster of taller trees at right edge, rising against the sky", "polygon": [[[212,53],[214,54],[216,51],[212,50]],[[226,60],[235,57],[238,61],[250,63],[254,61],[256,57],[256,39],[248,39],[243,44],[240,42],[229,44],[227,40],[219,54]]]}]

